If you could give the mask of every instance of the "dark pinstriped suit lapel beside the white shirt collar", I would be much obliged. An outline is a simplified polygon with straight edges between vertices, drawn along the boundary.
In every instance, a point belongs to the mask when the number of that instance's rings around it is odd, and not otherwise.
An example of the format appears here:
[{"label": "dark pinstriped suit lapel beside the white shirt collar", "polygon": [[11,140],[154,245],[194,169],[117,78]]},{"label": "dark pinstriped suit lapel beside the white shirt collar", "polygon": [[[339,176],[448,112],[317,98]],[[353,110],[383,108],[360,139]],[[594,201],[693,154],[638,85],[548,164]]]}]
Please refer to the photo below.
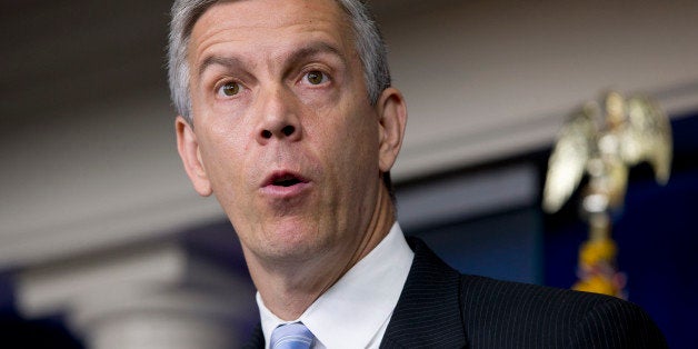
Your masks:
[{"label": "dark pinstriped suit lapel beside the white shirt collar", "polygon": [[408,242],[415,260],[380,347],[465,347],[460,275],[421,240]]}]

